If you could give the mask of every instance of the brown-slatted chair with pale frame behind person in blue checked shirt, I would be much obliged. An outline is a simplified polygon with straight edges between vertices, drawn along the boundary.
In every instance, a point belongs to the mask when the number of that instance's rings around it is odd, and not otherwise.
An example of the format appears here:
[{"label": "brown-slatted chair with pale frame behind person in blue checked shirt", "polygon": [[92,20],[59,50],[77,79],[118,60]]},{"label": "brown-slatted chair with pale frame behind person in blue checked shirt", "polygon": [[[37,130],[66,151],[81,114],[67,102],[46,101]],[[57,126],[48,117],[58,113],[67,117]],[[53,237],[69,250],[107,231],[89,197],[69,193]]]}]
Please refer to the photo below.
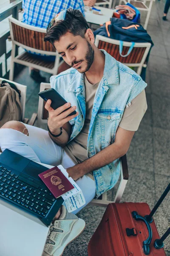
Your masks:
[{"label": "brown-slatted chair with pale frame behind person in blue checked shirt", "polygon": [[[52,44],[49,42],[44,42],[43,39],[46,29],[27,25],[12,17],[9,18],[9,24],[12,41],[9,80],[13,80],[14,63],[19,63],[27,67],[33,67],[35,69],[57,75],[59,64],[61,64],[62,61],[59,63],[59,54],[54,49]],[[41,59],[37,58],[36,55],[31,55],[28,52],[23,52],[22,54],[15,56],[16,45],[31,52],[55,56],[55,61],[42,61]]]}]

